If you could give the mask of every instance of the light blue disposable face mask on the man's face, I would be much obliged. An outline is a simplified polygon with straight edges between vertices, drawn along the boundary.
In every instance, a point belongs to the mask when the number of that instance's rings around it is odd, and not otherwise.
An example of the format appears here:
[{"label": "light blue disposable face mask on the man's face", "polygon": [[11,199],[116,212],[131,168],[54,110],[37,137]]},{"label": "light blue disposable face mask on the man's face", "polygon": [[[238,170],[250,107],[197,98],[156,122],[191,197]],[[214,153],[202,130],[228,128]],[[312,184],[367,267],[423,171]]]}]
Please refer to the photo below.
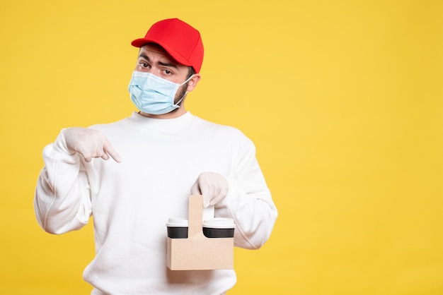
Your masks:
[{"label": "light blue disposable face mask on the man's face", "polygon": [[181,85],[188,83],[190,78],[192,76],[177,84],[151,73],[134,71],[129,86],[131,100],[137,109],[146,114],[166,114],[180,107],[178,104],[188,92],[175,104],[177,90]]}]

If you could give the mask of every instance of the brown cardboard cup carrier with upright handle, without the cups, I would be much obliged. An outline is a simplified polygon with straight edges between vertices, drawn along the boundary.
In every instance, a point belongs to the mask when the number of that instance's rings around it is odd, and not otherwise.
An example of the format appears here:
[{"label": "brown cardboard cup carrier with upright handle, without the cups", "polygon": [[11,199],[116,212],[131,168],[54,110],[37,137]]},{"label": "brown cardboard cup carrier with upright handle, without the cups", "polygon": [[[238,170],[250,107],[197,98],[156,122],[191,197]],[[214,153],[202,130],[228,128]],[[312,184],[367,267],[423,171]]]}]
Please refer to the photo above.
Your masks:
[{"label": "brown cardboard cup carrier with upright handle, without the cups", "polygon": [[202,230],[202,210],[202,195],[190,195],[188,239],[171,239],[168,237],[166,260],[169,269],[234,269],[234,238],[207,238]]}]

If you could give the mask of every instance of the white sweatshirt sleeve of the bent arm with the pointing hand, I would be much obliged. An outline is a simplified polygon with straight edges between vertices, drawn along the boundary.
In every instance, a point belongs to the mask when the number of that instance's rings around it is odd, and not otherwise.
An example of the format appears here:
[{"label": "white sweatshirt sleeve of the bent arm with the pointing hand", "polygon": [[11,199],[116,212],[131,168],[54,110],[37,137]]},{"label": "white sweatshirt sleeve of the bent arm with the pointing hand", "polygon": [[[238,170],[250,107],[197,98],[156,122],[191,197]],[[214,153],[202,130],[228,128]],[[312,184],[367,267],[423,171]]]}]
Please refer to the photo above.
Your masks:
[{"label": "white sweatshirt sleeve of the bent arm with the pointing hand", "polygon": [[35,216],[40,227],[51,234],[81,229],[91,216],[84,164],[79,155],[67,149],[64,130],[43,149],[45,167],[35,188]]}]

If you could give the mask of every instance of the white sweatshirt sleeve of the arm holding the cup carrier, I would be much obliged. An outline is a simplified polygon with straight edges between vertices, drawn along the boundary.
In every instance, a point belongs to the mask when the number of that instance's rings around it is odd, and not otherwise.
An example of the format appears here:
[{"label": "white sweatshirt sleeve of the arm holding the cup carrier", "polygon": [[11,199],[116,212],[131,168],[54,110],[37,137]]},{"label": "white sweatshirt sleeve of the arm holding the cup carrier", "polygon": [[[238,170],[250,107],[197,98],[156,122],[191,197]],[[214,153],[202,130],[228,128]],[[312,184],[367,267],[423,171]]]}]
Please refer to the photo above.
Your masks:
[{"label": "white sweatshirt sleeve of the arm holding the cup carrier", "polygon": [[229,191],[226,198],[216,205],[216,215],[234,218],[235,246],[258,249],[270,237],[277,219],[277,208],[255,158],[255,146],[246,140],[240,150],[235,167],[227,177]]}]

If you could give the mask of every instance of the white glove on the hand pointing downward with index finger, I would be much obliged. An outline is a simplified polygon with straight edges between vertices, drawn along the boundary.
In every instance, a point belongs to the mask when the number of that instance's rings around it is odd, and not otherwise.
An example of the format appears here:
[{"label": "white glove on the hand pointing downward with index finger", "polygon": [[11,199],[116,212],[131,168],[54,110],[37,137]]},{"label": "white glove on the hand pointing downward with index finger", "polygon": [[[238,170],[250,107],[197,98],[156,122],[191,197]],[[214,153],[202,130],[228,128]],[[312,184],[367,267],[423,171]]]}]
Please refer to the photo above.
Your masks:
[{"label": "white glove on the hand pointing downward with index finger", "polygon": [[70,152],[78,152],[86,162],[92,158],[109,159],[113,157],[115,162],[120,163],[122,159],[110,145],[108,138],[103,133],[88,128],[71,127],[64,130],[64,140]]}]

